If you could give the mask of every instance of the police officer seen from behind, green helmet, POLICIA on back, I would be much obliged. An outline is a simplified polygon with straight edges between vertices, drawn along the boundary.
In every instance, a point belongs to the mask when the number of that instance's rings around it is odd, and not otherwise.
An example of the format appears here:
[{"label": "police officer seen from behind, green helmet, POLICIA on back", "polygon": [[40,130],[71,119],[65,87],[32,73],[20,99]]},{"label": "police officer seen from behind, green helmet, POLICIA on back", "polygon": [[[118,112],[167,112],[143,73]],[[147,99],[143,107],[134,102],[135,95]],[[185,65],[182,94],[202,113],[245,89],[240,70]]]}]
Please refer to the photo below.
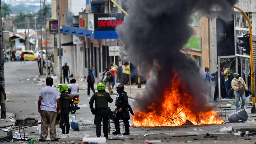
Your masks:
[{"label": "police officer seen from behind, green helmet, POLICIA on back", "polygon": [[[96,126],[96,136],[101,136],[101,119],[103,123],[103,133],[104,137],[108,138],[108,102],[113,102],[113,99],[110,97],[106,91],[106,85],[102,82],[97,84],[98,92],[95,92],[90,99],[90,108],[92,110],[92,114],[95,114],[95,126]],[[95,109],[94,109],[94,101],[95,101]]]}]

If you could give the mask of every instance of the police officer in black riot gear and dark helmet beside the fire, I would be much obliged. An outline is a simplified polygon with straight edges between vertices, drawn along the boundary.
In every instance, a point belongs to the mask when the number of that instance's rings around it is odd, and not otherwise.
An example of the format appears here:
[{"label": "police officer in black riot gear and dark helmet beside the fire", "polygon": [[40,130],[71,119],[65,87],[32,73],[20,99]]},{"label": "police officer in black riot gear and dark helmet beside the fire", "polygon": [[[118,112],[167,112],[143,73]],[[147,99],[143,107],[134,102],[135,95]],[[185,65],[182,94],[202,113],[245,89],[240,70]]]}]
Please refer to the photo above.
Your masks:
[{"label": "police officer in black riot gear and dark helmet beside the fire", "polygon": [[117,83],[117,97],[116,97],[116,109],[114,111],[114,117],[113,117],[113,121],[114,121],[114,125],[116,128],[116,131],[114,131],[112,134],[116,135],[116,134],[121,134],[120,133],[120,123],[119,120],[122,119],[124,122],[124,129],[125,132],[123,133],[123,135],[129,135],[130,134],[130,129],[129,129],[129,119],[130,119],[130,115],[129,115],[129,111],[128,111],[128,96],[127,93],[124,91],[124,85]]}]

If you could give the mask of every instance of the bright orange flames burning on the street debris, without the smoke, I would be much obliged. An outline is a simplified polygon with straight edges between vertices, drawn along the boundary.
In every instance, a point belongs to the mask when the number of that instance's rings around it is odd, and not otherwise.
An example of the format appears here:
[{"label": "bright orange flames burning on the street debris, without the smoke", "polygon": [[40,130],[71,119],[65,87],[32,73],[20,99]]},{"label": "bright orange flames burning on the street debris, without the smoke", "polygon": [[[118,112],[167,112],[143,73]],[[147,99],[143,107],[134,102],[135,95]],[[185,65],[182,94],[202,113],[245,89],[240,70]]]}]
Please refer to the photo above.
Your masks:
[{"label": "bright orange flames burning on the street debris, without the smoke", "polygon": [[217,113],[212,110],[195,111],[193,107],[198,104],[193,101],[192,96],[179,91],[182,86],[177,75],[172,79],[172,87],[165,91],[160,107],[155,103],[145,111],[137,111],[135,108],[132,117],[135,127],[159,127],[159,126],[181,126],[183,124],[222,124],[222,118],[217,117]]}]

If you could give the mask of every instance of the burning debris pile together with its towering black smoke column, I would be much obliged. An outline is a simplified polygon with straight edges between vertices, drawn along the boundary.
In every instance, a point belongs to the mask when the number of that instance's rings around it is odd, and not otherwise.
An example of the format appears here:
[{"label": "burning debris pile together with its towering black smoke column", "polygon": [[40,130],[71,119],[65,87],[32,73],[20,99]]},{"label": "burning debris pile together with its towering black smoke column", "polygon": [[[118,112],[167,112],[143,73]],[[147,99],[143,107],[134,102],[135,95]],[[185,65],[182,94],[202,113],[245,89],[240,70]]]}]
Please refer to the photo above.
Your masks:
[{"label": "burning debris pile together with its towering black smoke column", "polygon": [[[220,124],[197,61],[181,49],[193,34],[191,15],[220,10],[232,20],[237,0],[130,0],[128,16],[117,27],[122,54],[150,75],[135,101],[134,126]],[[199,17],[201,17],[199,15]]]}]

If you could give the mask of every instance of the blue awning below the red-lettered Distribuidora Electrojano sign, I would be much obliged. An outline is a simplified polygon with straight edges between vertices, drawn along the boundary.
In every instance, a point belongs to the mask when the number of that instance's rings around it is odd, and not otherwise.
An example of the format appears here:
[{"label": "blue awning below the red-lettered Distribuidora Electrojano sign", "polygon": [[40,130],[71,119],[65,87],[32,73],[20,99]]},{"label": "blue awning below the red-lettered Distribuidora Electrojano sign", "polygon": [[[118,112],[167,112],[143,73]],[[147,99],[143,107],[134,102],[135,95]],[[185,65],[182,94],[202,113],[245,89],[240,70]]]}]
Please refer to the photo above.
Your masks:
[{"label": "blue awning below the red-lettered Distribuidora Electrojano sign", "polygon": [[116,31],[91,31],[78,27],[62,26],[62,32],[92,39],[118,39]]}]

